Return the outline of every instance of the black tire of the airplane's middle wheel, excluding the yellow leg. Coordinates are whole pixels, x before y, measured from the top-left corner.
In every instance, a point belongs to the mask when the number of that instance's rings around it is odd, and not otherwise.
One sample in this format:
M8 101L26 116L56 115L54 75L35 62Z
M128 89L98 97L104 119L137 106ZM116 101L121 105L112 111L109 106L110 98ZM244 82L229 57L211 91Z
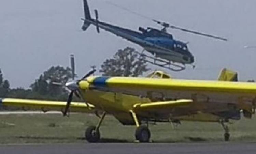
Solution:
M150 141L150 130L147 126L140 126L135 131L135 138L140 142L149 142Z

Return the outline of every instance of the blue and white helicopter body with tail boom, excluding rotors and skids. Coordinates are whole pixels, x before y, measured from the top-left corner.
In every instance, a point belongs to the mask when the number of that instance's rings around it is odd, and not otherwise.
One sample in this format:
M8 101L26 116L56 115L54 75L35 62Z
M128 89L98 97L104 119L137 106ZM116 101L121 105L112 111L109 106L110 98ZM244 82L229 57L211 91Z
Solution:
M153 28L148 28L147 30L140 28L143 29L141 33L96 21L95 19L86 19L86 21L142 46L156 57L182 64L194 63L194 57L189 52L187 45L181 41L174 40L171 34Z

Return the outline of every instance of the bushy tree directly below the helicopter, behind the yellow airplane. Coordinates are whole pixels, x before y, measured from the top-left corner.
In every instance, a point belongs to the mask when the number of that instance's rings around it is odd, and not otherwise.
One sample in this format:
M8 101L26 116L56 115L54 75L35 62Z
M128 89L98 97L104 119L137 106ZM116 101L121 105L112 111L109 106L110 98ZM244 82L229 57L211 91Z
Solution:
M113 58L107 59L101 65L103 76L132 76L137 77L148 71L145 61L138 59L134 48L118 50Z

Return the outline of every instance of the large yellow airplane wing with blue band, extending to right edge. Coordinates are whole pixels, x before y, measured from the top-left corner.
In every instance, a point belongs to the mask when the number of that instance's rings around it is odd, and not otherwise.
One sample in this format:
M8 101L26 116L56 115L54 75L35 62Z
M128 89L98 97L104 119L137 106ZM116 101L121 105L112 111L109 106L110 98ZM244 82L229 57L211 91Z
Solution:
M88 84L102 91L146 98L193 99L195 103L211 105L210 102L215 102L224 104L227 108L230 108L230 104L235 104L238 110L248 112L253 111L256 103L256 84L248 82L91 76L87 81L80 82L80 88L86 89Z

